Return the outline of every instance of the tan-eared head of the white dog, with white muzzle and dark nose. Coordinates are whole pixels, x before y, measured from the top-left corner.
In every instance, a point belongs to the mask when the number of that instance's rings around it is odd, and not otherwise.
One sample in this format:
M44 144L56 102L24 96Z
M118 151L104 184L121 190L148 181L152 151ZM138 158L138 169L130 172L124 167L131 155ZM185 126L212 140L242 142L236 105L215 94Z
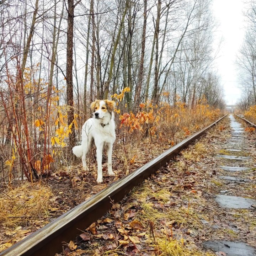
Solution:
M96 100L91 103L91 111L96 119L111 118L116 102L111 100Z

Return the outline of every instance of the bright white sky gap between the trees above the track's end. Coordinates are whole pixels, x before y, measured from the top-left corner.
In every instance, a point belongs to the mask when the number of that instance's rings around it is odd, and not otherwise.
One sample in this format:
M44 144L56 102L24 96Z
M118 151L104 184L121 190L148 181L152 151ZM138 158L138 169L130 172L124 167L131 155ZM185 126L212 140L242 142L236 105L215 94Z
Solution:
M244 39L245 17L242 14L244 7L243 0L213 0L213 14L219 23L215 34L216 45L223 37L215 65L221 76L226 104L236 103L241 95L234 62Z

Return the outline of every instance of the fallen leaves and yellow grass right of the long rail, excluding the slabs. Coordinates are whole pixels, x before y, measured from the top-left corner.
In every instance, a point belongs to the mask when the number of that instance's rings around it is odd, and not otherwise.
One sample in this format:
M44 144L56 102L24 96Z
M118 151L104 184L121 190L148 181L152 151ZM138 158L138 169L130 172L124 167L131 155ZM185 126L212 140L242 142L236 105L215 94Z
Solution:
M227 120L219 125L223 124L228 128ZM212 256L216 254L202 246L210 239L235 239L255 246L254 212L220 209L214 202L219 190L236 193L235 187L218 177L222 174L218 173L219 159L214 156L228 134L228 129L218 128L183 150L121 203L114 203L107 214L74 240L76 250L67 245L61 255ZM254 172L244 175L255 178ZM241 186L241 196L251 197L249 184Z

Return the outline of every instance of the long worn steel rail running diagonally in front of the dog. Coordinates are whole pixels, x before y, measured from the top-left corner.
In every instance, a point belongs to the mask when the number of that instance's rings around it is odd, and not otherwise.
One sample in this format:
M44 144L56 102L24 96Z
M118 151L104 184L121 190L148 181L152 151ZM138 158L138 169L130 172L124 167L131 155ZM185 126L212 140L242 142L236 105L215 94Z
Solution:
M62 250L63 242L68 243L70 240L73 240L76 235L82 233L81 230L87 228L106 213L112 206L111 200L114 202L120 201L133 187L165 165L166 162L171 160L187 145L201 137L225 116L166 150L161 155L156 156L126 177L112 183L101 192L35 231L25 239L17 242L17 244L3 251L0 256L53 256L56 252Z

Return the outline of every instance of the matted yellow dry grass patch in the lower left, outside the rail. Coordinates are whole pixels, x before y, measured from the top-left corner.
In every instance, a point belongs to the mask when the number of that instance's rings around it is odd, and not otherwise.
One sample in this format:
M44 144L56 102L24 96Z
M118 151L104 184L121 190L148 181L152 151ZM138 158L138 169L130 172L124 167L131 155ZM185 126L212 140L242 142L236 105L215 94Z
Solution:
M22 186L0 194L0 223L14 228L30 221L40 221L49 214L52 191L39 183Z

